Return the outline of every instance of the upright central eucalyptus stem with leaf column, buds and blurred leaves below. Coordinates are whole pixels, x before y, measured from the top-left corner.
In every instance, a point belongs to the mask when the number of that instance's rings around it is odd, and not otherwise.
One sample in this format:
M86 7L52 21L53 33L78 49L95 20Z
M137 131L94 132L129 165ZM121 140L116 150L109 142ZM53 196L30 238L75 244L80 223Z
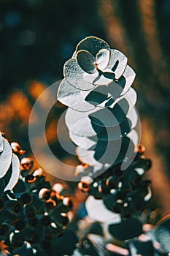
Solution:
M131 87L135 72L127 62L103 39L86 37L63 67L58 100L69 107L66 126L82 162L75 170L77 187L89 194L77 256L170 251L169 217L155 230L147 230L148 219L141 218L152 196L151 182L143 179L151 161L139 143L137 97Z

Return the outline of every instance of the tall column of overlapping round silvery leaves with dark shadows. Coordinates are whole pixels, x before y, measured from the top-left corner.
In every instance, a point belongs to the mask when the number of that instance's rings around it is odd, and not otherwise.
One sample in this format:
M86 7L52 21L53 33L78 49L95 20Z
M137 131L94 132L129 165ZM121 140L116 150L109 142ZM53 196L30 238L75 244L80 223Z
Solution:
M113 163L128 165L139 143L139 117L131 88L135 73L119 50L97 37L87 37L64 65L58 100L69 109L66 126L81 162L92 173Z

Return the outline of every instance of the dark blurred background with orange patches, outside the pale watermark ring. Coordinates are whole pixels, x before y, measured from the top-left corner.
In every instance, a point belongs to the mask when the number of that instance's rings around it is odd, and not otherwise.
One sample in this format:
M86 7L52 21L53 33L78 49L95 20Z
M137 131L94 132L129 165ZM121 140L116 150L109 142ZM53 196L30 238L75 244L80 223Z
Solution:
M63 64L89 35L123 51L136 71L142 143L153 162L152 206L168 213L169 186L169 0L0 0L0 129L28 154L28 119L41 92L63 78ZM47 140L69 159L57 140L64 107L56 103ZM54 178L52 178L54 179Z

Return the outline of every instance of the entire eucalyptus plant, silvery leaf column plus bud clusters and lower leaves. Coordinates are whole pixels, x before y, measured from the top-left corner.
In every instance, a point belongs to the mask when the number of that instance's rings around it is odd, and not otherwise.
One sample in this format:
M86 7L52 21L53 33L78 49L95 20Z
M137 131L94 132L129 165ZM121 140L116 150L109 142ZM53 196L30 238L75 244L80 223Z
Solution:
M77 146L72 214L66 185L52 186L16 142L0 134L0 241L8 255L158 256L170 253L170 218L150 217L152 162L140 143L135 72L98 37L86 37L63 67L58 100ZM71 223L70 223L71 222ZM69 227L69 228L68 228ZM0 252L1 253L1 252Z

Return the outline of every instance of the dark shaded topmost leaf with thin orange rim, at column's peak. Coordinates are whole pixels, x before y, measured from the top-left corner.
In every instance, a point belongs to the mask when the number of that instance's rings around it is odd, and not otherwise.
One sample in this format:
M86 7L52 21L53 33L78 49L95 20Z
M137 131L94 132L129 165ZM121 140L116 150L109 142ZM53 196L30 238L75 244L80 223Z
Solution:
M76 51L88 50L96 58L96 54L101 49L110 50L107 42L98 37L86 37L77 45Z

